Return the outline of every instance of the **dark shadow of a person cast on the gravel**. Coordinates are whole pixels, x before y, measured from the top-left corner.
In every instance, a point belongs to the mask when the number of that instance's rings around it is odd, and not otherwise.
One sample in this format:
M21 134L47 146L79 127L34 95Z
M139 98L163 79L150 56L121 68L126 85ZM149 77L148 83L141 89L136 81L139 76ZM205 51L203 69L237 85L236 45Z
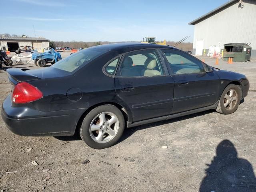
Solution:
M256 192L256 178L250 162L238 158L234 144L223 140L216 148L211 164L206 164L206 176L200 192Z

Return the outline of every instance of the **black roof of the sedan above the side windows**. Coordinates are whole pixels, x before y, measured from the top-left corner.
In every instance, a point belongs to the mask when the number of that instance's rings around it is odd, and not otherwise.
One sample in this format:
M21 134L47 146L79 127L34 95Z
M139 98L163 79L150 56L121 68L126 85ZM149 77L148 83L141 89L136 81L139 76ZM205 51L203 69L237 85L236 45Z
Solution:
M112 43L90 47L92 49L100 49L105 51L118 51L118 52L129 52L133 50L146 49L146 48L171 48L171 46L150 44L150 43Z

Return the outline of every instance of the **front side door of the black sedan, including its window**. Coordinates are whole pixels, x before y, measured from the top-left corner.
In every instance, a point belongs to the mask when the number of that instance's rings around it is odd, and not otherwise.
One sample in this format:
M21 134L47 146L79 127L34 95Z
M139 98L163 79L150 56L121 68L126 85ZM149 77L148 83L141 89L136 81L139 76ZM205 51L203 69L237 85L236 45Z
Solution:
M214 72L205 72L205 64L186 52L162 49L175 81L172 113L213 105L217 101L220 80Z

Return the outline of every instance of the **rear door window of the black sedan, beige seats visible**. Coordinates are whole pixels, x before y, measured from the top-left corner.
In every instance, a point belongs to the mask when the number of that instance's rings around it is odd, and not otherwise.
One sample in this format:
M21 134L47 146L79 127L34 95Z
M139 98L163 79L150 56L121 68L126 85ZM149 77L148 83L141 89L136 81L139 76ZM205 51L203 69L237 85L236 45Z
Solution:
M120 66L122 77L164 75L156 50L136 51L124 56Z

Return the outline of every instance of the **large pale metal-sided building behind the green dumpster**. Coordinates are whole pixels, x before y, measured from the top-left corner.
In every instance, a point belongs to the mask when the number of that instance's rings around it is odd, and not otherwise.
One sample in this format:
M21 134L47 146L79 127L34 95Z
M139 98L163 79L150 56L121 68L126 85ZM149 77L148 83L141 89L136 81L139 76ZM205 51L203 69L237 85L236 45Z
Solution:
M256 0L231 0L189 24L194 25L193 54L207 53L212 45L251 43L256 57Z

